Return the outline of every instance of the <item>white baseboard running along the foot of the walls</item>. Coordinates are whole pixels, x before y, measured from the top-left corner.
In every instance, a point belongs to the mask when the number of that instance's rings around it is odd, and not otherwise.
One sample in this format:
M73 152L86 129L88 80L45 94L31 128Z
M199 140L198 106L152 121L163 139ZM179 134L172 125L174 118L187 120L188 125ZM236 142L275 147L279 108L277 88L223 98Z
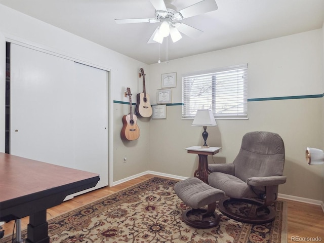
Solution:
M145 172L139 173L137 175L130 176L130 177L127 177L127 178L119 180L119 181L115 181L115 182L113 182L113 185L115 186L120 183L127 182L129 180L132 180L132 179L135 179L137 177L144 176L147 174L170 177L170 178L177 179L177 180L185 180L188 178L188 177L176 176L176 175L172 175L172 174L160 173L160 172L155 172L155 171L145 171ZM281 194L281 193L278 193L278 198L292 200L292 201L300 201L301 203L306 203L306 204L317 205L317 206L320 206L324 212L324 202L320 201L320 200L314 200L314 199L309 199L309 198L299 197L299 196L286 195L286 194Z

